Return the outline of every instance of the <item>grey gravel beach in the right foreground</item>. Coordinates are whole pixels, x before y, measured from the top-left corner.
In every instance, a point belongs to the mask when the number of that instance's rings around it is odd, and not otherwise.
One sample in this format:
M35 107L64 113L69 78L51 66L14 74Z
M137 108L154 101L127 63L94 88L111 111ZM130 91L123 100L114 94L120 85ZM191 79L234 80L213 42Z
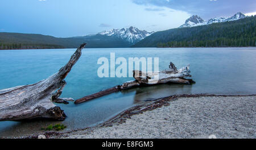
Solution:
M256 96L181 97L123 123L51 138L256 138Z

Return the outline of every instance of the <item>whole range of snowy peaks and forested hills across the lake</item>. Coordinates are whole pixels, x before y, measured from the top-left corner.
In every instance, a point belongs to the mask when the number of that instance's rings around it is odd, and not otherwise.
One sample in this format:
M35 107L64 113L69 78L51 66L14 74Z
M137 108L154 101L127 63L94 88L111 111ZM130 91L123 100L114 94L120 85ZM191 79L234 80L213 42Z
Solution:
M199 41L199 46L213 47L225 45L225 38L230 40L230 46L255 46L255 30L255 16L246 17L241 12L229 18L216 17L207 21L193 15L179 28L158 32L129 27L72 38L0 32L0 49L76 48L84 42L87 48L197 47Z

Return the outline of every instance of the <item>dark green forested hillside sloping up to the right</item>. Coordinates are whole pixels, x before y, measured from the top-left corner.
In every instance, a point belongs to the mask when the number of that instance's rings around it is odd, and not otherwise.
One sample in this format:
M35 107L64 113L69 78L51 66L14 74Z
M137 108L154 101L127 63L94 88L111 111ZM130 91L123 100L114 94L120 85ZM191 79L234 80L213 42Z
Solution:
M133 47L256 46L256 15L232 22L155 32Z

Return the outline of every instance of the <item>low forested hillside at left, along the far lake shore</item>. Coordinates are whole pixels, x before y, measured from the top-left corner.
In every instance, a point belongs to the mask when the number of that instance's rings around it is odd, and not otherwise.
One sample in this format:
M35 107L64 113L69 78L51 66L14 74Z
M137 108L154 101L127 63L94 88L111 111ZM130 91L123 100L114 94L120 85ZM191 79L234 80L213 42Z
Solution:
M87 43L86 48L130 47L121 38L93 35L73 38L55 38L39 34L18 34L0 32L0 49L47 49L47 48L77 48Z

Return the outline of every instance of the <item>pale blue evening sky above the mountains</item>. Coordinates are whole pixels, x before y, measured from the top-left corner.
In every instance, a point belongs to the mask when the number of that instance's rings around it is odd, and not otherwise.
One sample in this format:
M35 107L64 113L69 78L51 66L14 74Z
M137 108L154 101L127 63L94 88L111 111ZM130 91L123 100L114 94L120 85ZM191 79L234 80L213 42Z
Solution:
M255 0L1 0L0 6L0 32L56 37L129 26L162 31L179 27L193 14L207 20L256 11Z

